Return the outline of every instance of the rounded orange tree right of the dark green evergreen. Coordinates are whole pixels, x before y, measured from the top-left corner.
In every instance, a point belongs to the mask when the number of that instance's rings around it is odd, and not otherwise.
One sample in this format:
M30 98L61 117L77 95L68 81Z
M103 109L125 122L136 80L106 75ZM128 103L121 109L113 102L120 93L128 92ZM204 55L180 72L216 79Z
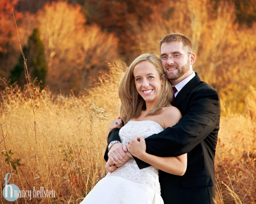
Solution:
M86 25L79 5L46 3L38 11L38 22L51 90L78 92L89 85L90 74L99 68L107 70L107 62L117 57L116 38L97 25Z

